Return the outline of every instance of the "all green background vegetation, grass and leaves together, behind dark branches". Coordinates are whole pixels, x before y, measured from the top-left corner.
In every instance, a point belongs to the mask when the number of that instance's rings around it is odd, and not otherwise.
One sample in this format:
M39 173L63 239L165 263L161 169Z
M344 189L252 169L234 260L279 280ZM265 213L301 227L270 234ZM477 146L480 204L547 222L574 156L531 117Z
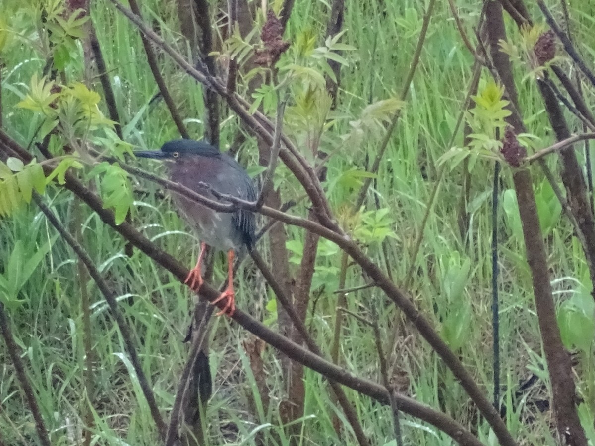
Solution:
M58 8L60 2L48 1ZM468 30L475 26L480 9L475 2L458 2L459 14ZM273 8L280 5L275 2ZM556 5L552 5L554 10ZM83 52L80 40L84 21L64 21L56 9L48 14L48 26L40 27L40 8L35 1L0 0L0 8L10 11L0 17L0 62L2 63L2 103L4 129L24 146L40 140L58 128L60 136L52 138L50 150L59 153L65 143L85 140L123 159L131 146L152 148L179 137L162 102L151 102L157 92L146 62L137 30L126 18L117 14L109 2L93 2L92 20L109 67L115 100L123 123L126 143L115 136L112 123L105 118L101 86L92 79L87 90L83 80ZM158 28L165 40L186 53L186 44L178 32L174 2L143 2L143 14ZM574 2L571 16L577 41L585 54L593 54L593 5ZM491 389L491 222L490 194L492 159L497 157L494 139L484 127L474 139L479 147L471 166L471 199L467 209L471 216L468 238L459 235L457 215L461 197L462 165L453 162L455 152L448 143L466 89L471 80L472 56L464 49L446 4L439 4L430 25L422 52L421 65L415 74L405 103L396 99L408 71L411 55L421 28L424 2L346 0L346 30L340 39L325 42L324 33L328 6L324 2L296 2L286 39L292 42L280 70L282 85L289 95L286 114L288 133L308 155L309 145L320 140L321 150L333 153L328 162L325 187L331 205L342 224L367 244L368 252L383 263L380 244L387 243L388 258L397 283L406 279L412 262L414 277L409 279L409 294L420 309L432 315L441 334L457 350L478 382ZM533 11L534 17L540 17ZM10 17L10 21L7 20ZM52 31L48 36L47 31ZM519 39L515 26L509 26L511 41ZM255 36L252 36L255 38ZM42 78L49 42L54 45L57 68L64 70L68 88L52 92ZM250 50L249 39L232 38L227 48L240 59ZM342 50L341 56L331 49ZM330 55L330 56L329 56ZM342 83L336 111L328 113L330 102L320 89L329 58L340 58ZM179 103L190 133L197 139L203 135L203 96L192 78L182 73L164 55L159 55L162 74ZM526 68L516 65L518 78ZM480 91L493 92L484 75ZM283 84L285 82L285 84ZM308 89L308 87L313 89ZM538 99L531 77L518 84L524 120L533 145L545 147L552 142L543 104ZM240 83L240 88L246 88ZM491 93L490 93L491 94ZM496 95L497 96L497 95ZM493 96L492 96L493 97ZM481 98L480 98L481 99ZM485 99L485 98L484 98ZM253 95L256 108L274 115L275 92L264 86ZM500 98L495 98L499 102ZM57 102L56 102L57 101ZM480 104L481 100L476 101ZM501 102L501 101L500 101ZM56 108L52 104L57 103ZM503 116L490 114L492 127ZM356 199L359 186L367 174L366 159L373 159L384 125L397 109L401 118L389 142L389 149L374 181L374 193L380 210L351 215L348 209ZM489 111L489 104L486 106ZM476 109L478 111L478 109ZM481 127L486 117L475 113L471 123ZM494 116L496 115L496 116ZM239 127L234 115L221 123L221 141L228 147ZM572 121L572 119L571 119ZM576 123L575 123L576 125ZM492 129L493 130L493 129ZM475 128L474 128L475 131ZM460 132L459 132L460 133ZM480 133L477 133L478 135ZM486 137L487 135L487 137ZM486 138L488 143L486 143ZM455 139L461 146L461 135ZM118 164L98 164L85 146L72 147L79 158L65 156L55 160L54 171L60 175L68 168L77 168L89 184L104 197L123 221L130 206L134 223L152 240L187 264L193 262L196 249L193 235L173 211L170 199L153 184L129 178ZM487 156L488 149L492 154ZM484 152L481 152L484 150ZM486 152L487 151L487 152ZM482 156L483 155L483 156ZM240 152L240 161L256 174L259 169L255 142L248 140ZM449 159L450 158L450 159ZM584 160L583 160L584 161ZM152 423L139 385L129 378L131 366L123 343L114 327L107 306L92 282L87 284L92 299L92 327L95 338L95 385L93 394L84 391L84 347L80 284L76 259L65 243L57 238L51 225L35 206L29 206L32 190L45 193L45 199L64 224L73 227L73 215L80 205L71 194L40 177L40 158L30 165L0 164L0 301L7 304L17 341L29 363L29 377L35 386L43 416L55 444L73 444L80 435L80 417L89 403L95 419L96 444L154 445L157 443ZM411 258L412 247L427 208L428 196L437 181L440 162L452 165L443 179L434 211L425 227L421 252ZM14 163L14 162L12 162ZM555 160L549 161L555 168ZM157 168L159 169L159 168ZM540 174L534 175L534 189L552 271L558 321L563 339L578 357L578 389L583 398L580 411L585 428L595 441L592 428L595 413L593 372L593 301L580 245L567 222L560 219L560 208L552 189ZM61 183L63 181L59 181ZM275 184L287 199L299 194L297 184L281 167ZM524 255L522 231L515 195L509 189L509 174L503 175L504 190L500 195L500 323L502 332L502 380L506 385L503 402L508 407L506 422L522 444L555 445L550 434L549 414L538 412L534 401L547 398L545 389L516 398L515 391L531 373L541 378L546 387L547 373L541 353L537 319L534 313L530 272ZM186 359L186 346L181 343L189 321L192 300L179 282L157 268L139 252L124 255L124 241L112 233L96 215L83 209L82 237L96 264L119 295L121 306L133 326L143 368L151 377L156 397L162 407L171 407L177 378ZM304 203L296 208L307 212ZM292 267L297 269L302 253L303 233L288 228ZM322 242L318 250L314 277L315 310L308 325L321 346L330 344L332 315L338 287L339 251L331 243ZM224 273L217 263L216 277ZM245 264L237 288L239 306L261 317L276 328L274 296L266 292L264 281L255 268ZM349 270L347 287L364 283L359 271ZM129 284L129 286L126 286ZM474 423L481 441L496 444L493 434L477 414L453 376L431 353L408 324L400 321L392 304L378 292L367 289L349 294L349 309L365 312L374 306L384 328L386 347L396 352L394 379L399 391L432 407L439 407L455 419ZM397 336L394 346L392 329L399 326L410 336ZM224 318L215 321L212 332L214 397L207 418L211 444L287 444L287 432L278 417L278 404L283 395L280 364L274 351L264 354L271 404L263 407L255 392L255 378L242 347L246 333ZM0 348L0 429L8 444L33 444L35 430L26 409L4 346ZM371 330L353 318L347 318L341 346L347 368L358 375L380 381L377 353ZM327 386L314 372L307 372L306 416L301 444L343 444L333 429L332 418L343 414L331 401ZM399 381L400 380L400 381ZM361 417L366 434L373 444L392 444L392 415L353 392L349 393ZM513 403L514 401L514 403ZM256 408L253 410L253 408ZM530 422L528 421L530 419ZM476 423L476 424L475 424ZM256 433L258 432L258 435ZM406 444L450 445L452 440L431 426L403 417ZM350 432L347 444L355 444Z

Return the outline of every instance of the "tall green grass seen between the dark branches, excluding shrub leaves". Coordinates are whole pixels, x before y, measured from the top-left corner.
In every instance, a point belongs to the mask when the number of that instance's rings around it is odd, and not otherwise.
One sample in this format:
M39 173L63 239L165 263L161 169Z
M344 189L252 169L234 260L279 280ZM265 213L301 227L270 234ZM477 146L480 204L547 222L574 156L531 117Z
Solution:
M478 8L468 2L461 5L466 26L471 29L477 20ZM177 33L174 3L149 1L143 13L158 27L161 35L174 42L180 49L184 43ZM287 29L289 40L306 27L322 36L328 7L325 2L296 2ZM411 54L417 43L424 5L416 1L347 0L345 43L357 48L347 55L350 66L344 68L338 111L348 119L338 120L330 133L345 133L349 120L355 120L361 110L372 100L389 98L400 89L402 78L409 67ZM592 26L591 7L585 2L575 2L571 10L577 36L580 36L585 54L592 54L592 35L586 30ZM108 2L95 2L93 21L110 70L118 110L124 123L126 139L139 147L155 147L177 137L167 109L162 103L151 104L156 93L149 67L136 29L126 18L116 14ZM535 17L538 17L535 14ZM11 24L21 30L22 40L35 42L32 22L24 12L18 12ZM514 39L515 32L511 27ZM70 65L69 79L82 75L82 48L74 54L77 64ZM162 58L162 72L172 89L176 101L193 137L203 132L201 88L194 80ZM44 61L34 45L17 45L9 48L2 57L5 64L2 79L4 101L4 126L21 143L29 144L34 138L38 122L29 112L15 104L22 99L34 73L42 71ZM456 117L465 99L466 85L471 78L472 58L465 51L455 25L445 5L433 17L425 45L421 67L409 91L409 99L400 123L389 143L384 162L375 182L381 207L390 208L393 230L397 237L388 244L390 269L397 283L404 282L406 272L415 262L415 277L408 290L425 313L434 315L435 322L445 324L452 318L468 315L468 322L460 326L465 340L459 355L475 378L489 392L493 379L491 371L491 221L490 190L493 165L479 162L472 174L471 230L468 240L461 240L457 224L461 172L455 169L444 177L439 196L424 230L421 252L411 258L412 246L420 230L421 221L431 189L436 183L436 161L446 147L454 130ZM522 73L519 70L519 78ZM519 86L521 105L530 131L542 138L541 145L552 141L547 129L543 105L536 89L527 82ZM99 89L99 87L98 87ZM237 120L230 117L223 121L221 140L230 143ZM345 152L334 156L328 164L329 182L339 177L351 165L364 167L365 157L373 159L383 135L372 135L357 147L345 147ZM332 139L333 134L325 135ZM461 136L456 139L461 144ZM256 164L256 147L245 145L242 158ZM584 160L583 160L584 161ZM552 161L552 167L555 165ZM536 190L543 189L544 180L535 175ZM193 235L172 210L170 199L152 184L136 183L137 215L134 222L159 243L167 252L187 259L190 265L196 256ZM534 312L531 278L524 257L524 244L519 238L518 224L514 219L515 203L507 201L511 188L508 175L503 177L500 211L500 324L502 334L502 380L506 388L502 401L508 411L506 422L521 444L556 444L550 434L550 414L541 413L534 401L547 398L540 388L548 385L545 363L541 352L537 319ZM58 189L49 193L51 206L68 224L72 212L71 197ZM290 197L287 197L290 198ZM336 209L349 205L353 197L344 190L331 191L331 204ZM538 194L538 200L547 202L547 193ZM297 209L297 212L305 209ZM303 233L288 228L290 240L300 240ZM11 219L0 220L0 271L17 240L26 244L28 252L53 240L54 230L36 208L22 209ZM134 329L134 336L143 360L146 375L162 409L173 404L177 378L186 360L186 346L181 343L185 326L189 322L192 298L179 282L161 271L141 253L133 257L123 254L124 241L112 233L95 215L88 215L83 226L86 249L105 277L120 296L121 306ZM192 240L192 243L189 241ZM314 281L326 286L320 293L316 309L309 318L309 326L317 343L330 344L333 333L331 319L338 282L336 271L339 258L332 247L325 255L326 245L320 248L320 269ZM588 272L572 230L567 222L552 224L547 234L552 278L556 299L563 301L573 293L588 288ZM378 247L369 253L383 264ZM448 274L452 268L468 260L471 265L465 280L462 296L455 302L447 301ZM134 378L124 352L124 345L111 321L101 295L92 284L93 351L95 354L95 387L92 395L84 391L84 347L80 290L76 278L73 253L58 239L53 242L51 253L36 269L21 299L26 303L11 312L17 342L29 365L32 381L43 416L55 444L76 444L80 441L82 413L92 407L93 439L105 445L156 445L156 434L148 407ZM217 280L223 280L223 263L216 263ZM130 269L127 269L129 267ZM324 269L325 267L327 269ZM334 272L334 274L333 274ZM273 296L264 293L264 279L256 274L249 262L239 275L237 301L239 306L260 316L275 326L275 312L267 304ZM347 287L364 283L361 272L350 268ZM129 284L126 287L125 284ZM255 292L257 290L258 292ZM129 299L131 298L131 299ZM496 444L493 434L469 403L452 374L444 368L418 334L405 322L396 326L395 310L384 296L374 288L349 294L348 309L359 312L362 304L379 309L380 325L399 329L394 351L394 379L398 389L416 400L446 410L465 425L473 425L480 439L486 444ZM462 320L462 319L461 319ZM392 338L383 333L385 343ZM289 444L287 431L278 416L278 405L284 398L280 363L274 351L264 351L270 406L262 405L256 391L249 359L242 347L246 333L224 318L216 319L212 330L211 368L214 376L214 395L208 406L206 420L209 425L209 444ZM0 430L2 439L9 445L35 444L32 417L24 404L18 383L7 362L4 347L0 348ZM371 330L361 322L347 316L342 343L345 366L358 375L380 381L380 368ZM592 358L591 358L592 362ZM588 363L588 361L584 362ZM515 395L519 385L532 374L540 381L531 391ZM591 413L594 412L595 391L593 369L580 370L578 387ZM342 419L342 411L328 395L327 385L317 373L308 371L306 383L306 415L303 418L302 445L355 444L350 432L339 437L333 428L333 417ZM349 392L366 434L373 444L389 445L393 439L392 415L368 398ZM252 410L255 407L256 410ZM348 425L345 423L345 425ZM403 417L406 444L450 445L452 440L441 432L416 419Z

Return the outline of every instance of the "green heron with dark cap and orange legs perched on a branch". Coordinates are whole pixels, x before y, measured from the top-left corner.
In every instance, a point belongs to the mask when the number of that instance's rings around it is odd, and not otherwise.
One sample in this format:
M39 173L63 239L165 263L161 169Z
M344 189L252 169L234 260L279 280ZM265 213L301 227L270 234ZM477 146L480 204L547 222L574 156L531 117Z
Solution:
M256 189L245 169L226 153L208 143L190 139L180 139L165 143L160 150L139 150L134 152L141 158L167 161L170 179L182 184L205 197L215 199L201 183L208 184L220 194L255 201ZM254 241L254 213L244 210L235 212L217 212L199 203L173 193L173 199L189 224L196 230L201 240L201 251L196 266L190 271L185 284L198 293L203 284L201 263L208 244L217 250L227 251L227 288L213 304L226 300L226 304L217 315L233 315L236 305L233 290L234 252L244 247L252 249Z

